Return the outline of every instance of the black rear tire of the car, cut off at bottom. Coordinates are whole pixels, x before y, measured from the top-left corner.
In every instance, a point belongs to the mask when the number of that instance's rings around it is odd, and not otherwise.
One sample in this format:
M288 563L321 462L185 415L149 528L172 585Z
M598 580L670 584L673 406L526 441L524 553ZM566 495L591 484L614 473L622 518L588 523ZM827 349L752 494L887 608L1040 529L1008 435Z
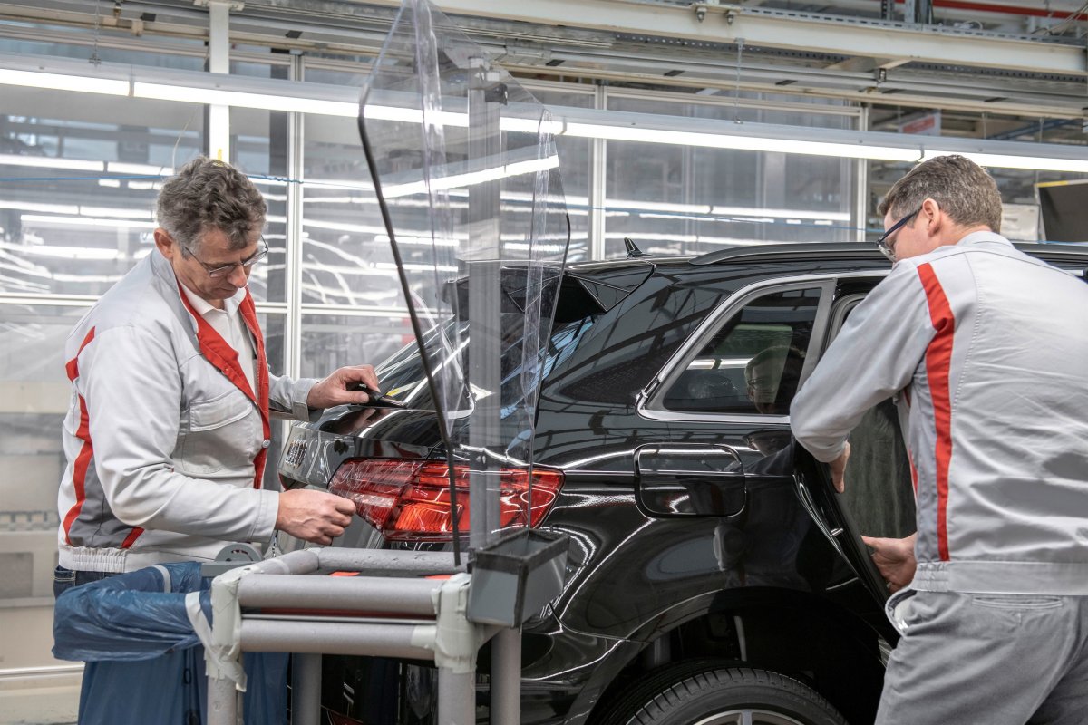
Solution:
M811 687L751 667L665 667L632 684L599 725L846 725Z

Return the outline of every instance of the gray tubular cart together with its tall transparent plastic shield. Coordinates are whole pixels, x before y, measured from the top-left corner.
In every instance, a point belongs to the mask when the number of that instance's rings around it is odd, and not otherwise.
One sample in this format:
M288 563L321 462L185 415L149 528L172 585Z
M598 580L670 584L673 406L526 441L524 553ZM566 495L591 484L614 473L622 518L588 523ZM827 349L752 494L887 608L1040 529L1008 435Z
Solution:
M211 725L235 723L243 651L299 655L296 725L318 722L322 653L433 661L438 722L471 725L477 651L492 638L491 720L517 725L520 627L562 588L566 538L532 528L531 485L518 527L504 529L498 487L499 466L532 471L570 240L556 124L428 0L405 0L371 68L363 150L447 460L469 468L471 565L460 566L450 466L453 555L308 549L220 575ZM520 282L504 283L510 271ZM452 285L462 276L466 300Z

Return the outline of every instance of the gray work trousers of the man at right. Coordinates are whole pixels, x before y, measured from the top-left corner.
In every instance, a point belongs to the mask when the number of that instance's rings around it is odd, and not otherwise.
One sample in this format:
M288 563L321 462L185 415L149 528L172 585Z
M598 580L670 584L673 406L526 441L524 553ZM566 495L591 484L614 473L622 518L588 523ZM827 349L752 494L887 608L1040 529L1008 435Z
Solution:
M876 725L1084 725L1088 597L918 591Z

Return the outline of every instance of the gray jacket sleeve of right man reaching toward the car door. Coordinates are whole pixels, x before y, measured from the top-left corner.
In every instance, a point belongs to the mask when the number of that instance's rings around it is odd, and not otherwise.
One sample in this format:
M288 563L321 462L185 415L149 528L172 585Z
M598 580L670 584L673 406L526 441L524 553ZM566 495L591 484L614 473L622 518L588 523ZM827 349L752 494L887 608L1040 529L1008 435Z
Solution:
M793 436L838 458L867 410L910 385L935 329L917 265L899 262L846 318L790 405Z

